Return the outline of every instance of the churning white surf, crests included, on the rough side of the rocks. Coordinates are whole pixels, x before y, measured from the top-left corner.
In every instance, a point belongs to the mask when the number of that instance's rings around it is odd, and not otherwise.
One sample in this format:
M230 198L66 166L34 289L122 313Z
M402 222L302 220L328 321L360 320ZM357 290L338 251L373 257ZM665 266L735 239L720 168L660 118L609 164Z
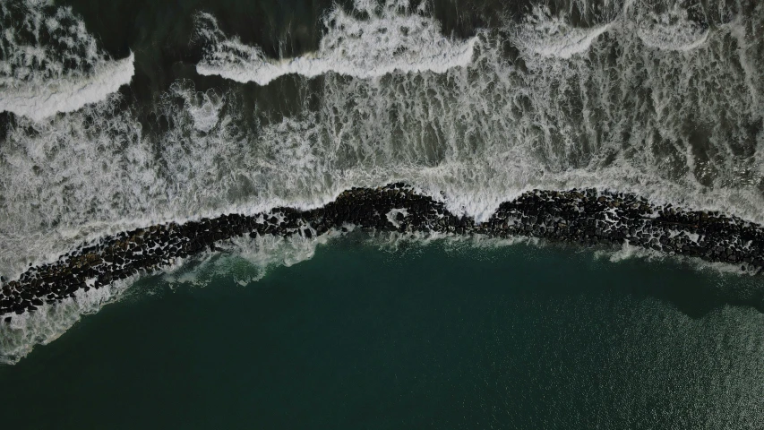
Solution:
M537 2L462 39L426 7L359 1L329 11L319 49L292 58L268 58L200 13L197 71L227 86L175 82L154 107L159 133L107 96L130 81L132 56L108 59L68 9L35 10L4 30L0 56L0 109L13 112L0 142L0 273L11 279L126 228L314 207L399 180L477 219L528 189L593 186L764 221L754 0ZM55 51L7 41L56 22L69 39ZM237 82L285 74L320 91L305 85L288 116L245 107ZM77 85L99 96L39 108L36 97Z

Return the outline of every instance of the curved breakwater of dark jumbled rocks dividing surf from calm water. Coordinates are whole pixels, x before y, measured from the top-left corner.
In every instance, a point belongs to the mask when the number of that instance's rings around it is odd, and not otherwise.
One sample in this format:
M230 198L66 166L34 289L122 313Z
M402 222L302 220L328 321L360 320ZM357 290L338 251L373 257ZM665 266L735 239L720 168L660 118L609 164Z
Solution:
M751 274L764 266L764 228L718 212L656 206L631 193L534 190L502 203L491 219L476 224L399 183L353 188L311 211L275 208L254 216L221 215L108 236L56 262L30 267L18 280L3 281L0 315L10 323L14 314L74 297L80 288L101 288L138 272L159 271L178 258L215 251L216 244L234 236L312 238L350 225L401 233L533 236L580 245L628 241L665 253L740 265Z

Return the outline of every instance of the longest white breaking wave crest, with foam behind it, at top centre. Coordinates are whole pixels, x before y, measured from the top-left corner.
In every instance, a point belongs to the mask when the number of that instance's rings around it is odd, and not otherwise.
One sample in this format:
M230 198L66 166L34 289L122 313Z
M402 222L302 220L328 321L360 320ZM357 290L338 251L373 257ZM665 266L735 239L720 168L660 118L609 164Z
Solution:
M442 36L440 24L424 14L409 11L408 3L387 0L377 12L370 1L356 0L356 13L339 6L324 18L324 32L317 51L294 58L271 59L260 47L227 39L215 18L200 13L199 35L208 50L197 64L200 74L219 74L236 82L266 85L279 76L296 73L313 78L339 73L373 78L388 73L444 73L469 64L476 39L456 41ZM364 12L368 19L357 13Z

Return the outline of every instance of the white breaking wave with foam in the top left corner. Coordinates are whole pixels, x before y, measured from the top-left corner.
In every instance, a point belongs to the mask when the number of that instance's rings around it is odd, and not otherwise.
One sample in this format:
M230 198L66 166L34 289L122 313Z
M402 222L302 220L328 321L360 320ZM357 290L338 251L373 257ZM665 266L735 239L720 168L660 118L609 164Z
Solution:
M133 54L109 59L71 8L0 2L0 15L12 24L0 31L0 112L40 121L105 99L133 78Z

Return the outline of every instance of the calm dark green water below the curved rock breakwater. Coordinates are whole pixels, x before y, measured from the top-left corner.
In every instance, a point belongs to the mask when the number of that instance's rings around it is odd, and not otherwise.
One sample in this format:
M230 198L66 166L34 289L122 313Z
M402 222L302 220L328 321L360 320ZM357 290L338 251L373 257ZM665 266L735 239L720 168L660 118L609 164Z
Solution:
M0 415L4 428L761 428L764 315L730 304L755 289L677 262L346 238L247 287L142 280L0 367Z

